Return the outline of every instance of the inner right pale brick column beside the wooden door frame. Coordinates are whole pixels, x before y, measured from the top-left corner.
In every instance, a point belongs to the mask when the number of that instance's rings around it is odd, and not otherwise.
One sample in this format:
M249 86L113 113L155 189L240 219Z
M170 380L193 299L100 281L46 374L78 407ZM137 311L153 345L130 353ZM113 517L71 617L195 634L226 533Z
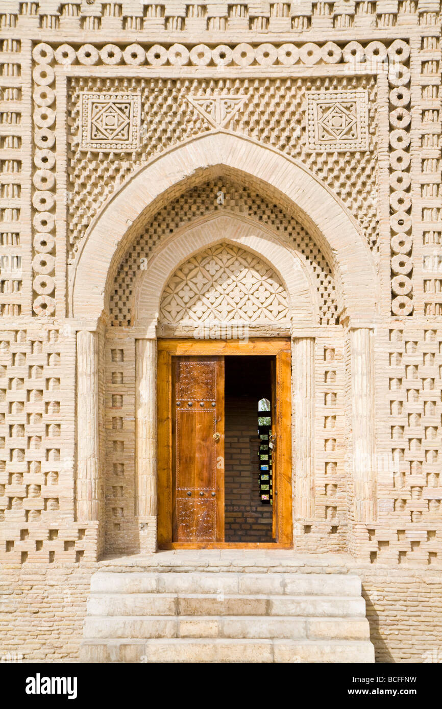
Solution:
M314 518L314 337L292 338L294 520Z

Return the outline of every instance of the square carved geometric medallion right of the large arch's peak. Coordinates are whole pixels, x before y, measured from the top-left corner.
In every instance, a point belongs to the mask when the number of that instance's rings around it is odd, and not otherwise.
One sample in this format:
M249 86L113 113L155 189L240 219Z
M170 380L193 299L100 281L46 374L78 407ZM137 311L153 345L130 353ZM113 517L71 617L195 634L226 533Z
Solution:
M368 150L368 92L308 91L309 150Z

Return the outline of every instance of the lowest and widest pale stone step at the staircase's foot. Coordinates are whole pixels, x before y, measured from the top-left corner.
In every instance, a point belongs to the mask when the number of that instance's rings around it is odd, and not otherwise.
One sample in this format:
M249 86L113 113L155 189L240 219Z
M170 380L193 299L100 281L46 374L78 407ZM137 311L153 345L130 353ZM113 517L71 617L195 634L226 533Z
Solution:
M82 662L372 663L368 640L84 640Z

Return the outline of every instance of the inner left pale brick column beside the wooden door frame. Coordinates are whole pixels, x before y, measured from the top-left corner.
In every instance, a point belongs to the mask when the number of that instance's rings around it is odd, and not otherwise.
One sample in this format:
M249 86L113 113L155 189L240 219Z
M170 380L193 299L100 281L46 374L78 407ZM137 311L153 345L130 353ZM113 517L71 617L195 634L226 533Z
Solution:
M136 518L140 552L157 542L157 340L135 344Z

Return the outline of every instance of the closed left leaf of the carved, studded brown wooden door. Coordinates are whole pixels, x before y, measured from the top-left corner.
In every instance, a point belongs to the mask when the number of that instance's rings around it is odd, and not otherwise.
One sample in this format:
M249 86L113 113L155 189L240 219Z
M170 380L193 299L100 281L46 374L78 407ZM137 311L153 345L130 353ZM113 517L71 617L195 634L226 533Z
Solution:
M224 358L172 357L172 541L224 538Z

